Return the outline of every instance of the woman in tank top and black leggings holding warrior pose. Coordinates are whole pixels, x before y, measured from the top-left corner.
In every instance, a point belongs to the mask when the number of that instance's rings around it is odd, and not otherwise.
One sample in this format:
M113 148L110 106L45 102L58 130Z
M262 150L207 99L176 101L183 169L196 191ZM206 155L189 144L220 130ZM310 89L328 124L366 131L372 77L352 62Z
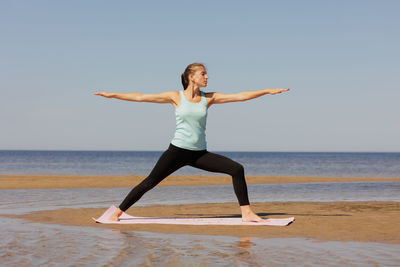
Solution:
M204 93L207 71L203 64L193 63L181 75L182 91L161 94L96 92L108 98L135 102L170 103L175 108L176 130L169 148L161 155L150 175L126 196L110 220L118 221L122 212L138 201L147 191L179 168L189 165L195 168L226 173L232 176L233 188L238 199L243 222L264 221L256 215L249 203L243 166L227 157L208 152L206 149L207 109L213 104L246 101L265 94L278 94L289 89L264 89L238 94Z

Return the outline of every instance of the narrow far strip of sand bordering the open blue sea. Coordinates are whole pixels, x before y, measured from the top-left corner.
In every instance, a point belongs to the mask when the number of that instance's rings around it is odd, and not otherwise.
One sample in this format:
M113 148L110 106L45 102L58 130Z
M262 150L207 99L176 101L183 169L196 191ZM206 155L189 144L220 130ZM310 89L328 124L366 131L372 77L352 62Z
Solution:
M110 188L134 187L146 176L99 175L16 175L0 174L0 189L50 189L50 188ZM247 184L334 183L334 182L400 182L398 178L377 177L307 177L307 176L246 176ZM169 176L157 186L207 186L231 185L227 175Z

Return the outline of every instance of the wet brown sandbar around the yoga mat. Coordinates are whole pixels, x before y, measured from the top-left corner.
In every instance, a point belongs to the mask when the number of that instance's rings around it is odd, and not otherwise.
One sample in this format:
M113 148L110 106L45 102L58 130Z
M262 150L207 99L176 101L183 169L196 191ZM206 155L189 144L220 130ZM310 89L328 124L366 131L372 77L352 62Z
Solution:
M174 234L226 235L241 238L313 238L321 241L360 241L400 244L399 202L272 202L253 203L260 216L295 222L277 226L105 225L91 218L105 209L59 209L23 215L2 215L33 222L91 226ZM148 217L240 216L237 203L131 207L128 214Z

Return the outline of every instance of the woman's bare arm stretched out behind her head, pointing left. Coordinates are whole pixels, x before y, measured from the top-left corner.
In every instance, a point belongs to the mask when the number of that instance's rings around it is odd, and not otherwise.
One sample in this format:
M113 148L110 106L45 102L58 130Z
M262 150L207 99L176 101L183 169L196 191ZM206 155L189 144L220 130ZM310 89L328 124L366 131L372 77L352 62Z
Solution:
M161 94L96 92L94 94L127 101L173 104L176 103L177 92L170 91Z

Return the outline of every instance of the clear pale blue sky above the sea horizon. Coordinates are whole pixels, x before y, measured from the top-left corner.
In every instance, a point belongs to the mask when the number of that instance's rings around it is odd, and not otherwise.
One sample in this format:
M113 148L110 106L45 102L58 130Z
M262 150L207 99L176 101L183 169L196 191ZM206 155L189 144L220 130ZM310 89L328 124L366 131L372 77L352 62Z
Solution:
M164 150L170 104L95 91L291 88L209 109L210 151L400 151L400 1L0 1L0 149Z

